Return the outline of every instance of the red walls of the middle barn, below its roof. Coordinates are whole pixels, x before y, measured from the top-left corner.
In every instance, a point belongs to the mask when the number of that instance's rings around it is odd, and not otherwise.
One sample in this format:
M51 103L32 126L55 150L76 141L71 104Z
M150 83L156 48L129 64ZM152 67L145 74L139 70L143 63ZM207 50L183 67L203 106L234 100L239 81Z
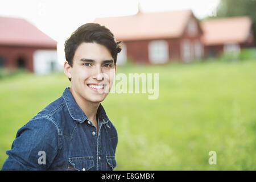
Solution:
M194 30L194 31L193 31ZM204 46L200 38L203 32L200 25L191 15L187 25L184 27L183 34L180 38L165 38L165 39L148 39L148 40L126 40L123 41L126 47L127 58L134 60L136 63L148 64L150 58L148 56L148 45L153 40L165 40L168 43L169 60L168 61L191 61L195 59L195 42L201 45L201 57L204 56ZM184 60L183 43L189 44L189 58ZM198 49L197 49L198 50ZM197 54L198 55L198 54ZM198 58L198 57L197 57Z

